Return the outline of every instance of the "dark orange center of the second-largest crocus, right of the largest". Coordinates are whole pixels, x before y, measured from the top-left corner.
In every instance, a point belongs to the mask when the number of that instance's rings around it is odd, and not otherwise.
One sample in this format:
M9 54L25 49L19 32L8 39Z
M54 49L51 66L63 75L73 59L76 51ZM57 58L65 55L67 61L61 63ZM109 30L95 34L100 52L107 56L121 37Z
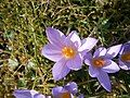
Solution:
M102 68L105 64L105 61L102 58L96 58L92 60L92 64L95 68Z

